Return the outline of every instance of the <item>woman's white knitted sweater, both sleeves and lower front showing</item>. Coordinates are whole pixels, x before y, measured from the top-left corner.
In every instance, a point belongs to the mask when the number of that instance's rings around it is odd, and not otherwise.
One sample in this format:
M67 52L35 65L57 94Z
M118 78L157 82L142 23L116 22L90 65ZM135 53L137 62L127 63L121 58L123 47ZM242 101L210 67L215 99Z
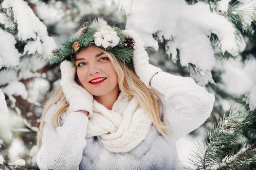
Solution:
M214 95L197 85L190 77L159 72L153 76L151 88L159 92L164 103L164 123L168 126L173 141L198 128L210 116L213 109ZM40 170L78 170L83 149L87 145L85 136L88 117L79 112L69 113L63 125L55 131L51 125L51 116L55 107L56 105L52 106L46 115L37 165ZM105 153L97 155L93 160L93 169L107 166L111 169L123 170L117 165L120 162L118 160L123 156L127 157L126 160L130 160L130 163L132 162L129 169L141 169L138 158L129 153L114 154L104 151ZM102 158L107 160L111 158L112 161L108 162L109 165L100 165L97 160Z

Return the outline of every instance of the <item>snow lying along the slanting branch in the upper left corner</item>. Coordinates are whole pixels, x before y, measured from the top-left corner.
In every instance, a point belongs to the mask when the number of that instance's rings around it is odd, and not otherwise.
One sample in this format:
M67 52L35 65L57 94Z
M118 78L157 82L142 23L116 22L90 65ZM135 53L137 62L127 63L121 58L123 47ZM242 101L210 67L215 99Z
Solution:
M2 7L12 7L14 18L18 24L18 39L21 41L26 41L30 38L35 40L34 42L28 42L24 53L28 52L32 54L37 51L39 54L45 54L43 55L44 58L48 58L49 51L55 49L56 44L53 38L49 39L46 26L34 14L27 2L23 0L4 0ZM46 44L42 45L42 43Z

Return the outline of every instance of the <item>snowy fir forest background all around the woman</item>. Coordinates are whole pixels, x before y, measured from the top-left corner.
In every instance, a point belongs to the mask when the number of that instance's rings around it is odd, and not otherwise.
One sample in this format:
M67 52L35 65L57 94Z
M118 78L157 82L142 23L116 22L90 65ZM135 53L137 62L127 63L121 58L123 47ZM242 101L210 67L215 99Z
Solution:
M38 169L40 116L60 78L49 55L95 17L135 30L152 64L215 95L209 119L177 141L184 167L256 170L256 0L0 0L0 170Z

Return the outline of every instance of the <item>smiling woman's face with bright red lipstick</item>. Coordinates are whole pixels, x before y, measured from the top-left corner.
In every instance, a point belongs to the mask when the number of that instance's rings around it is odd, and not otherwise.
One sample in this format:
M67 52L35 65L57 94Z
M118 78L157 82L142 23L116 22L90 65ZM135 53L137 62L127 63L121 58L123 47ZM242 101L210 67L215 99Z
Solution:
M77 53L75 65L78 80L91 95L103 96L112 90L119 90L118 77L109 57L96 47Z

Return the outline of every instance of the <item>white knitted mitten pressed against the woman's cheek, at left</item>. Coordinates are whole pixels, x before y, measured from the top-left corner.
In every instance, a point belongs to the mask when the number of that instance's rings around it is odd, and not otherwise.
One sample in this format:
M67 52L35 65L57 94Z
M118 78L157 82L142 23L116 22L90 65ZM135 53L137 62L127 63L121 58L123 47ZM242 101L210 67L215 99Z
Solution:
M70 61L63 61L60 64L61 80L63 93L70 105L70 111L85 110L92 115L93 96L82 86L75 82L75 68L72 68Z

